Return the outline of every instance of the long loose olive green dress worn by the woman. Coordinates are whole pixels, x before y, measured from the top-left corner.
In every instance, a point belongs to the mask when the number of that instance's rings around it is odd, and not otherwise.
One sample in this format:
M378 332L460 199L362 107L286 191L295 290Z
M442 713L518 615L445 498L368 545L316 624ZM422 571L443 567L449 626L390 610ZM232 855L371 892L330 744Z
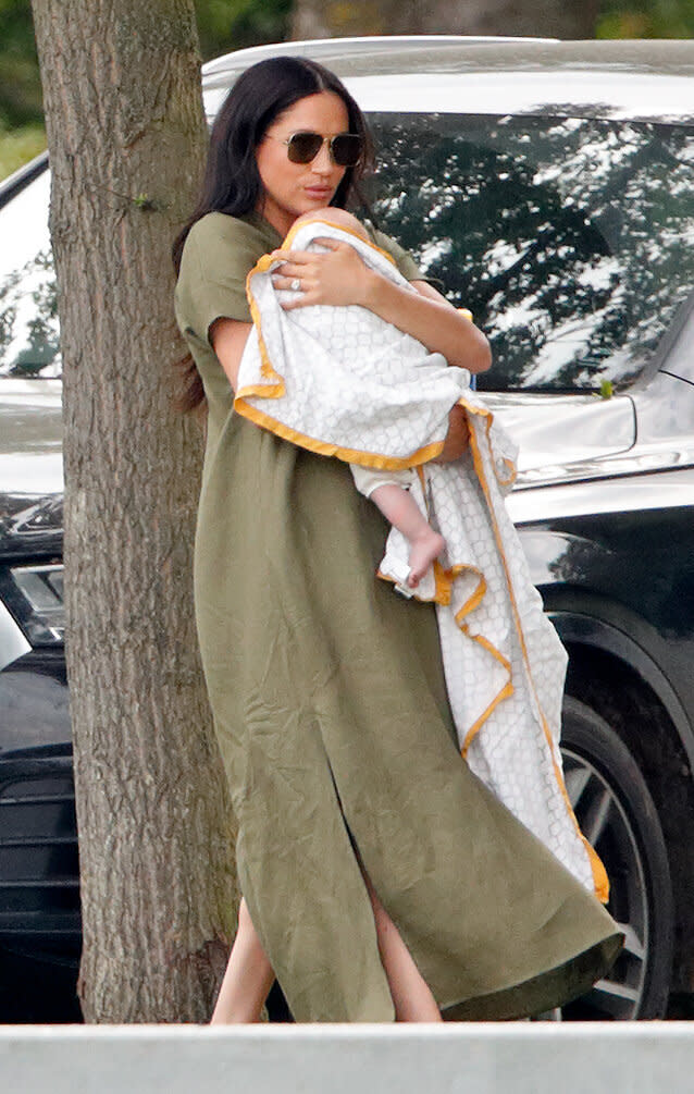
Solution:
M209 213L176 289L209 404L195 598L242 891L299 1022L393 1020L357 852L445 1016L544 1011L622 935L461 759L434 607L375 577L376 507L345 464L235 415L208 340L250 321L246 275L280 243L257 214Z

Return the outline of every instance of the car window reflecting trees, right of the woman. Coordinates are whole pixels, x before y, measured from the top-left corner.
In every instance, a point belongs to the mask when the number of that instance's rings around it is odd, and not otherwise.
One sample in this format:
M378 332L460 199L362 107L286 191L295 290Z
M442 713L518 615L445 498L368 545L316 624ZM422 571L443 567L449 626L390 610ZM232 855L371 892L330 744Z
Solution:
M492 342L492 389L633 381L694 286L694 130L576 117L369 117L379 226Z

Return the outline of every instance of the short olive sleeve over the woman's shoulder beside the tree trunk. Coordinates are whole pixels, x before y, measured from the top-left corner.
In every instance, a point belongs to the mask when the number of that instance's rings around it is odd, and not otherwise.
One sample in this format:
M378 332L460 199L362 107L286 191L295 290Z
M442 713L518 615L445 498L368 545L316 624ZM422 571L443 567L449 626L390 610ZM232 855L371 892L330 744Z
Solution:
M221 317L250 323L246 276L268 249L258 229L224 213L208 213L190 229L176 283L176 318L184 336L210 345Z

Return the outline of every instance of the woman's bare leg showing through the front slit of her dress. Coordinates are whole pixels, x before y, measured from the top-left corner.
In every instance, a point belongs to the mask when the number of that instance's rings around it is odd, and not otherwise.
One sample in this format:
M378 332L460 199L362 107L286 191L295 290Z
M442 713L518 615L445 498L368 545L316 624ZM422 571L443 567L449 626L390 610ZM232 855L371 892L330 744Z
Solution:
M363 869L363 868L362 868ZM443 1022L424 977L412 959L400 932L364 874L376 921L378 952L388 978L397 1022Z

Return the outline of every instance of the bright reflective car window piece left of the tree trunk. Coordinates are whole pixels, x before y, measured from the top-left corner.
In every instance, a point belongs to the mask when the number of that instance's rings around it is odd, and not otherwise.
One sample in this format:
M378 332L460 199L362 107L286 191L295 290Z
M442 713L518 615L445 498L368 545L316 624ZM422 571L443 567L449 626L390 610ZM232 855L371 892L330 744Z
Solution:
M60 375L48 171L0 209L0 379Z

